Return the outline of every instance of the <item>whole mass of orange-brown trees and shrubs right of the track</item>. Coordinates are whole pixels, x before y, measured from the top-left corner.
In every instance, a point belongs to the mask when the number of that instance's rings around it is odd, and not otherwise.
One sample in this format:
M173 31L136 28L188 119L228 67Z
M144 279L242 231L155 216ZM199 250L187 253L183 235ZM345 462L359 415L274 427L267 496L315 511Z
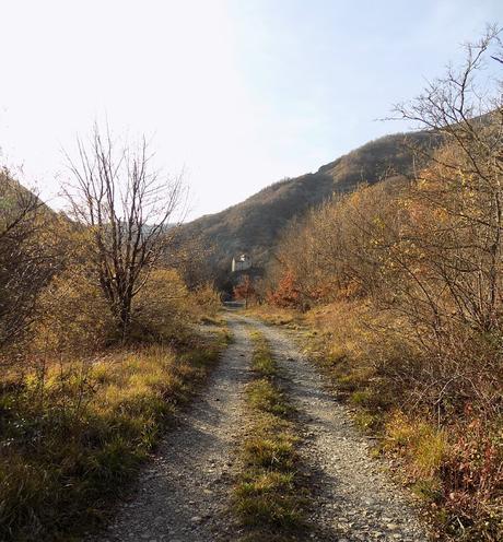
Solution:
M438 450L423 472L430 497L451 511L446 532L469 540L502 534L499 36L490 27L461 66L396 107L431 138L414 149L413 175L390 172L290 224L269 273L272 305L325 321L324 352L340 382L370 411L387 412L378 431L410 452L421 424L433 427L416 450L416 474L425 450ZM408 445L397 409L410 420Z

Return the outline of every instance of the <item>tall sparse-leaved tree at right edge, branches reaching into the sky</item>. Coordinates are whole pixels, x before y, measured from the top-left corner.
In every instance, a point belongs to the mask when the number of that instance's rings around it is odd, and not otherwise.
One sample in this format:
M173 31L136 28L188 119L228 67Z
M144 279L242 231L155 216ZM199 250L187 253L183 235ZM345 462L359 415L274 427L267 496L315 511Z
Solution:
M503 46L499 28L489 26L465 48L459 68L449 67L416 101L396 109L401 118L440 134L448 148L428 153L431 167L426 176L418 174L416 199L431 215L445 216L422 248L428 249L435 274L455 299L456 315L491 331L501 328L503 299L503 80L496 74L501 66L495 61ZM488 75L490 67L493 70Z

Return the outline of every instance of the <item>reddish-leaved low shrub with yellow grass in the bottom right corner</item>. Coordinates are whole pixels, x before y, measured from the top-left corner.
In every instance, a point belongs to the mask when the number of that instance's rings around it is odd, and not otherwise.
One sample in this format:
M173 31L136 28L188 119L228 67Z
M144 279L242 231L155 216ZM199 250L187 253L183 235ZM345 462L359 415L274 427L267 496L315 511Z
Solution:
M470 413L471 415L471 413ZM503 534L503 434L501 424L437 427L395 411L383 446L403 460L414 491L447 539L501 540Z

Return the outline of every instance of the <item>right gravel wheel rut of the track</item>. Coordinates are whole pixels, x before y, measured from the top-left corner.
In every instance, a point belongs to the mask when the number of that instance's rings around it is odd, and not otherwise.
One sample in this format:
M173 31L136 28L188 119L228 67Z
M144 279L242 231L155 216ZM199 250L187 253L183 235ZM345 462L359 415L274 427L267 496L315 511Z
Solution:
M429 540L410 495L395 485L348 409L324 387L321 376L284 331L245 319L268 339L299 410L301 455L313 485L312 540Z

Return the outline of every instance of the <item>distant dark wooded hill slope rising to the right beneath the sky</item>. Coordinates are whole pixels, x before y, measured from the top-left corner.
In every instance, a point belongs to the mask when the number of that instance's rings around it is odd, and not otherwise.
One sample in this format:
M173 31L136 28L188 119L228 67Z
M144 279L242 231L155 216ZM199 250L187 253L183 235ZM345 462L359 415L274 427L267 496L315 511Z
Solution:
M276 182L247 200L217 214L204 215L182 226L183 236L200 237L213 247L220 273L231 267L234 254L248 252L256 266L267 263L281 229L332 193L353 190L362 182L411 172L413 149L431 143L425 132L393 134L321 166L316 173Z

